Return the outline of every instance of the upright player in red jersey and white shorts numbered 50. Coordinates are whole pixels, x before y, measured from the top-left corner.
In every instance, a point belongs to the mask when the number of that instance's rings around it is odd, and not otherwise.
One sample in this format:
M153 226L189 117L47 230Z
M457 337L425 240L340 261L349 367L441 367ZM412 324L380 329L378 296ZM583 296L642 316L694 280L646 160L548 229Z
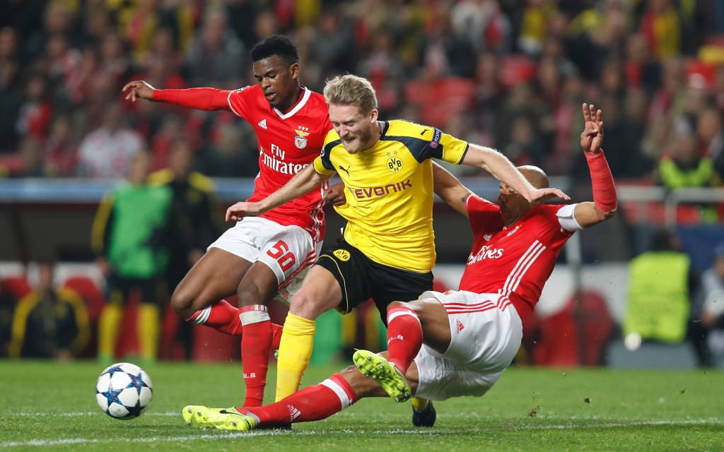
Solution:
M332 129L327 103L300 85L299 55L284 35L271 35L251 49L257 84L238 90L156 90L143 81L123 88L126 99L174 103L200 110L227 110L256 131L259 174L249 201L266 198L319 156ZM322 184L258 218L244 218L209 246L171 297L188 322L242 336L245 406L264 398L269 354L281 327L272 325L267 304L301 281L319 255L324 237ZM238 295L239 309L223 300ZM219 301L221 300L221 301ZM242 334L243 331L243 334Z

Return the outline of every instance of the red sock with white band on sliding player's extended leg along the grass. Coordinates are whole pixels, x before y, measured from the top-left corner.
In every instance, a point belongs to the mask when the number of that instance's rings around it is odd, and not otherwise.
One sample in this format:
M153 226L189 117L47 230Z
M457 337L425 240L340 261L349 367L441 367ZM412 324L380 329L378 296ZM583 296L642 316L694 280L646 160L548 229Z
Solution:
M319 421L341 412L357 401L352 387L340 374L316 386L308 386L275 404L238 411L258 419L260 424Z

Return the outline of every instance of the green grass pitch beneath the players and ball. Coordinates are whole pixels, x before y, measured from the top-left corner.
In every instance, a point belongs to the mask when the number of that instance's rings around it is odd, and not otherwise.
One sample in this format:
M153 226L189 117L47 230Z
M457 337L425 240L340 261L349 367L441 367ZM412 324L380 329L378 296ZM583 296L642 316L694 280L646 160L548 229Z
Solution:
M343 366L311 367L302 385ZM186 404L243 400L241 366L162 362L153 401L130 421L96 405L95 362L0 361L0 449L8 451L724 451L724 373L512 367L482 398L439 402L417 429L409 404L365 399L291 431L193 430ZM271 367L266 400L272 401Z

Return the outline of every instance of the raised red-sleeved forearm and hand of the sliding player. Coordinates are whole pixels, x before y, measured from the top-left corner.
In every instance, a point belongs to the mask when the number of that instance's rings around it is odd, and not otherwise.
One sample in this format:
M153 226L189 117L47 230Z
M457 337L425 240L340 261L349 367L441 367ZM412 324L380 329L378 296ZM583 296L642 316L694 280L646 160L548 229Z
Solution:
M603 144L602 111L593 105L583 104L586 124L581 132L581 148L591 171L593 202L581 202L573 210L573 216L581 227L589 228L613 217L616 210L616 187L601 145Z

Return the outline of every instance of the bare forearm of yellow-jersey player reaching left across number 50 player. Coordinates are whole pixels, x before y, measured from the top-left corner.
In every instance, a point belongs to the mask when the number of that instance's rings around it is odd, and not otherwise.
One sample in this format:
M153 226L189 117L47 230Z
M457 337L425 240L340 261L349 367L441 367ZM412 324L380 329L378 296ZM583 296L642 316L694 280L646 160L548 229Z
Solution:
M260 216L262 213L279 207L286 202L306 195L314 187L319 187L334 176L334 173L322 175L314 170L313 165L307 166L292 177L284 187L258 202L237 202L227 209L227 221L242 221L247 216Z

